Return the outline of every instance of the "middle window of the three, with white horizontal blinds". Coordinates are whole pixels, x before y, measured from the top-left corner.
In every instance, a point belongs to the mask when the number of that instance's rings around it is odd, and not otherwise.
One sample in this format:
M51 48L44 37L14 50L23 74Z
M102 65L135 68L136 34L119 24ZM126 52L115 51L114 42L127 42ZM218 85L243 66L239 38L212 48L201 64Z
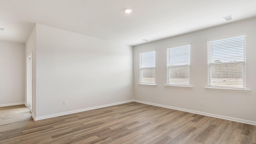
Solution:
M167 48L167 85L190 86L190 45Z

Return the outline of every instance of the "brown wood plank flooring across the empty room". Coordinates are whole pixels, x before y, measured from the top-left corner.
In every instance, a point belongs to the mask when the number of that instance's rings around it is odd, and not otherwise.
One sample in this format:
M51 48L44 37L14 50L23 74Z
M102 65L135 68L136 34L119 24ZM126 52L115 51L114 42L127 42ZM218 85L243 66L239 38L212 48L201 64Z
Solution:
M34 121L0 107L0 144L256 144L256 126L137 102Z

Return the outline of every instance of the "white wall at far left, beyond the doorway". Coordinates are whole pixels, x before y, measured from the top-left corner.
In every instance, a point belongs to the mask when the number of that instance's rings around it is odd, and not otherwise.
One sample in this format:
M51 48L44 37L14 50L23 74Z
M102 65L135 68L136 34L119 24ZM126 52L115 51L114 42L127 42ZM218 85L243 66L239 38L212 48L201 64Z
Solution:
M25 44L0 40L0 106L25 101Z

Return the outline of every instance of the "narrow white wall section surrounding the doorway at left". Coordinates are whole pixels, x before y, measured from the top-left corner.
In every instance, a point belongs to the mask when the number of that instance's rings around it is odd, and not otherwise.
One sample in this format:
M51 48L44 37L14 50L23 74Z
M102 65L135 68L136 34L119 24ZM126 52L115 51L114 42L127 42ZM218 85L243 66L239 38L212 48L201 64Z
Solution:
M36 116L36 25L34 26L28 40L26 41L26 70L27 59L32 54L32 114ZM27 71L26 71L27 72ZM26 90L27 90L27 78L26 78ZM27 97L27 95L26 95ZM27 102L27 99L26 101Z

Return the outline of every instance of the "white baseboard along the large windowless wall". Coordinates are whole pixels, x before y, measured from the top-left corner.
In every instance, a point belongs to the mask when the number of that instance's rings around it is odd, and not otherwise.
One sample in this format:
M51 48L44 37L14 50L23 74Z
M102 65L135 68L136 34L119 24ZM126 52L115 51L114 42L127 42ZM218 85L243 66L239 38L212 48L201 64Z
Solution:
M123 102L116 102L116 103L112 103L112 104L105 104L105 105L102 105L102 106L94 106L94 107L84 108L84 109L80 109L80 110L72 110L72 111L62 112L62 113L58 113L58 114L51 114L51 115L48 115L48 116L35 117L32 114L32 117L34 118L35 121L36 120L44 120L44 119L47 119L47 118L54 118L54 117L57 117L57 116L64 116L64 115L67 115L67 114L74 114L74 113L77 113L77 112L84 112L84 111L94 110L94 109L98 109L98 108L105 108L105 107L108 107L108 106L115 106L115 105L124 104L124 103L127 103L127 102L133 102L133 100L127 100L127 101L123 101Z

